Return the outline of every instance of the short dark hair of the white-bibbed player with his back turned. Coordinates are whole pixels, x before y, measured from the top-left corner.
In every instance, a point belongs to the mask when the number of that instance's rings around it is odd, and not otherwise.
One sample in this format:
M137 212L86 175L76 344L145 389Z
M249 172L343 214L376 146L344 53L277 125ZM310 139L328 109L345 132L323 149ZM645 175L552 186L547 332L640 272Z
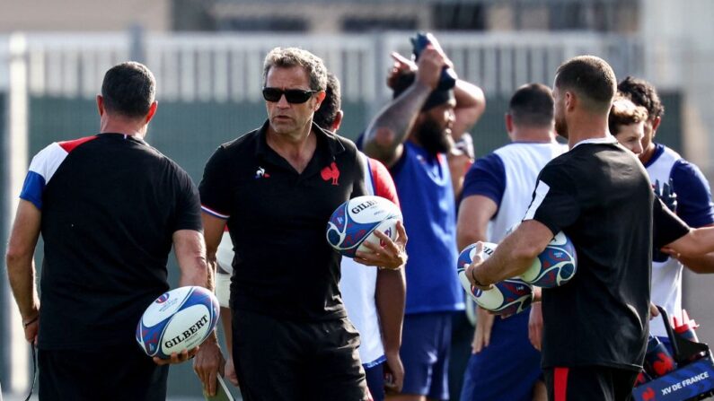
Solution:
M553 124L553 93L542 83L528 83L516 90L508 103L516 126L545 127Z

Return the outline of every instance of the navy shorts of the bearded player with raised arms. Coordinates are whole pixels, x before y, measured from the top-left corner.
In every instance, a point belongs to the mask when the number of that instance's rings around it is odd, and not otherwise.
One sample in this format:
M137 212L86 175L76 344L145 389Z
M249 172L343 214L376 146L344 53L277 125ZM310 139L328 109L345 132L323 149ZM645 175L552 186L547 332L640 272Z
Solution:
M449 399L449 353L454 312L415 313L404 316L401 362L402 394Z

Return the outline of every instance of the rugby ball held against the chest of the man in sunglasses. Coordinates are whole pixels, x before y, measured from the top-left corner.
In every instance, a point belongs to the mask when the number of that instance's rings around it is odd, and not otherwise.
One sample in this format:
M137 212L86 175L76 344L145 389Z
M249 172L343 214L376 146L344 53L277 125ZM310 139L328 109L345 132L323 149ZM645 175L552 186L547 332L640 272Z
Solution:
M375 231L396 240L398 221L402 221L401 210L392 201L380 196L357 196L332 213L327 223L327 241L343 256L355 257L357 251L371 252L365 242L380 244Z

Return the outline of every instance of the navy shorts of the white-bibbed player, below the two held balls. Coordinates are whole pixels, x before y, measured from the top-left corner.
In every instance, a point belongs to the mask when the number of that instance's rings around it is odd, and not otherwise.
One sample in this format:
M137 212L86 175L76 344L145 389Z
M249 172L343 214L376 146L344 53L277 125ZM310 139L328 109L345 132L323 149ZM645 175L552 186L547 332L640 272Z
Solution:
M471 355L461 401L531 401L540 379L541 353L528 340L528 310L505 319L496 317L489 346Z

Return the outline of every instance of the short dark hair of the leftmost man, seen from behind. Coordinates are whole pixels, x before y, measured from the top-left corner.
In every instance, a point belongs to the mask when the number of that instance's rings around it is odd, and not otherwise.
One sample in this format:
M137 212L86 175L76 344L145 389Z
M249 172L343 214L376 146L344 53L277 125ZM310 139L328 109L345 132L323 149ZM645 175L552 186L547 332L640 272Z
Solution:
M104 74L101 97L104 109L128 118L142 118L156 96L156 79L145 65L127 61Z

